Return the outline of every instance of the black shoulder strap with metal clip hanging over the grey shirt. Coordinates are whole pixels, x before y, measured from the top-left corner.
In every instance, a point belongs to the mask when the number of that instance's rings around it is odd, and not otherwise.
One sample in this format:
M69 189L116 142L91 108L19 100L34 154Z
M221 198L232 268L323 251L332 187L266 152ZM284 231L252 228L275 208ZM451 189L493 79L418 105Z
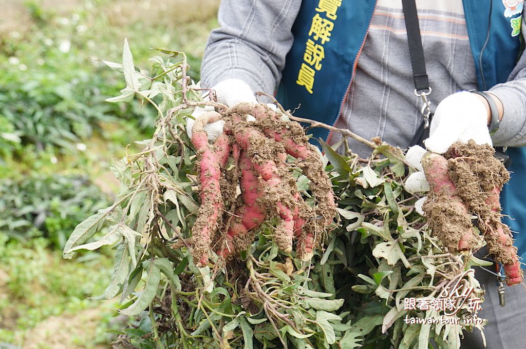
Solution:
M424 59L424 50L422 48L422 38L420 36L420 25L418 24L417 5L414 0L402 0L403 16L406 20L407 41L409 43L409 56L411 57L411 67L413 70L414 93L421 96L424 101L423 110L429 108L427 94L431 92L429 79L426 71L426 59ZM420 92L421 91L421 92ZM425 96L424 96L425 95ZM429 114L428 120L422 120L417 132L411 140L412 145L424 146L423 141L429 137L429 122L432 115Z

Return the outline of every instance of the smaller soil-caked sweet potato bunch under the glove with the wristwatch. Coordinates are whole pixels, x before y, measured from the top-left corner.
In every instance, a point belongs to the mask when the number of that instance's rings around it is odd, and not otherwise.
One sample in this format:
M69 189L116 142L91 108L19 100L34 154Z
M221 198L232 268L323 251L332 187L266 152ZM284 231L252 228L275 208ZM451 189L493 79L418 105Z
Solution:
M471 251L480 247L477 227L489 253L504 266L507 284L522 283L517 248L501 222L499 197L509 172L493 148L473 141L454 143L444 156L428 152L422 167L431 187L423 209L433 234L451 252Z

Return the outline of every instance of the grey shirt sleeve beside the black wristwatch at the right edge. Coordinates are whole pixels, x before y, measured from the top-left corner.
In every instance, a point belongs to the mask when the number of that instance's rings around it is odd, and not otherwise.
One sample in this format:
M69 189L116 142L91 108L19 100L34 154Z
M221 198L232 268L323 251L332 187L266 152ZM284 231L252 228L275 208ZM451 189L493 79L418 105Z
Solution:
M521 35L526 38L526 23L522 13ZM507 82L492 87L504 108L499 130L491 138L495 146L526 145L526 54L522 54Z

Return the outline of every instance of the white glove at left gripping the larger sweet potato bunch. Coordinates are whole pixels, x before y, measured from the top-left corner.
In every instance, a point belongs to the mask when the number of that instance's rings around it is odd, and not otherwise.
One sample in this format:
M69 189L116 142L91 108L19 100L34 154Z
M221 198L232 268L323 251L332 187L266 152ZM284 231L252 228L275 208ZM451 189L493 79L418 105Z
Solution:
M257 103L254 92L250 89L247 83L239 79L227 79L219 82L212 88L216 91L217 101L232 107L241 102ZM196 107L194 112L191 114L194 118L199 117L205 111L213 111L214 107L206 106L204 108ZM250 121L247 118L248 121ZM255 120L255 119L254 119ZM188 118L186 121L186 134L192 138L192 128L194 127L195 120ZM224 121L219 120L205 125L203 128L208 134L209 141L215 141L221 133L223 133Z

